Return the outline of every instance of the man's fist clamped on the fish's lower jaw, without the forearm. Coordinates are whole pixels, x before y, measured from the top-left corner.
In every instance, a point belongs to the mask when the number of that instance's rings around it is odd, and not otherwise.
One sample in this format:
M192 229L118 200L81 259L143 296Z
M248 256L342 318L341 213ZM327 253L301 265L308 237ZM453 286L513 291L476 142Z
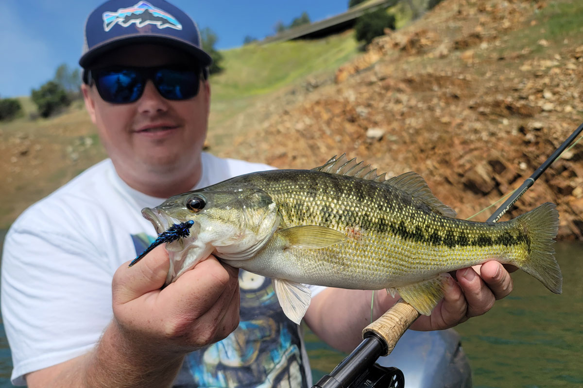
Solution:
M113 278L114 320L136 346L157 353L188 353L224 339L239 323L238 269L213 256L164 289L170 262L156 247Z

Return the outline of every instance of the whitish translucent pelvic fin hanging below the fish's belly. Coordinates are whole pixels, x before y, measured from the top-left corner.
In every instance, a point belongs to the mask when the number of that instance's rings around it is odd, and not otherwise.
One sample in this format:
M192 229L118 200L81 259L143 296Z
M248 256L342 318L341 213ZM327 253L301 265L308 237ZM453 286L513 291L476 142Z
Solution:
M273 279L273 289L287 318L298 325L312 301L312 291L304 284Z

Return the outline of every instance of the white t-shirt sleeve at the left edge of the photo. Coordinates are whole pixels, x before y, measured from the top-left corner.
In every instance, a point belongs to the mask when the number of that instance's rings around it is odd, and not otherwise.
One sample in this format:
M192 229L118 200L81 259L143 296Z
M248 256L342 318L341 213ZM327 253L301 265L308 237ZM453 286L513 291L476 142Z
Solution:
M113 274L95 247L67 230L43 229L47 223L15 223L3 248L2 316L15 385L89 351L112 316Z

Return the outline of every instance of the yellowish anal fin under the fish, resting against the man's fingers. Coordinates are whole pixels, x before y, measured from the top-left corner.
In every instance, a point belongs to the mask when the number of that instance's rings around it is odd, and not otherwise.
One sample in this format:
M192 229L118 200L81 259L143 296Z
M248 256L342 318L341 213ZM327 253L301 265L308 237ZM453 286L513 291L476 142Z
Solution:
M431 311L443 297L449 277L447 273L442 273L433 279L396 289L403 300L415 307L419 314L431 315Z

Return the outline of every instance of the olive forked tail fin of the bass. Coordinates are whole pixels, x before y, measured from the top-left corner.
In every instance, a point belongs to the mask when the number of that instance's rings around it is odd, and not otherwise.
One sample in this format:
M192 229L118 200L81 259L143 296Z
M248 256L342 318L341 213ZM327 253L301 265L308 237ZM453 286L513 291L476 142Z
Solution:
M518 264L520 269L536 277L547 289L560 294L563 285L561 269L554 258L554 238L559 232L556 205L546 202L516 218L530 239L530 255Z

